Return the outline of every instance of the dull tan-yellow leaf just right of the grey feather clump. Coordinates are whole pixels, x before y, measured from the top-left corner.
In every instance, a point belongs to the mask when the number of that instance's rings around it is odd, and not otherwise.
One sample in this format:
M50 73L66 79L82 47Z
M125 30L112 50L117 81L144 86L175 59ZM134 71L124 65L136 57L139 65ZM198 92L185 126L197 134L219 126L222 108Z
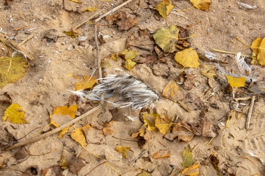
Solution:
M178 89L179 89L179 87L178 87L177 83L174 80L171 80L166 85L165 89L163 90L163 96L165 96L167 99L172 100L173 102L177 103L177 101L183 99L183 96Z

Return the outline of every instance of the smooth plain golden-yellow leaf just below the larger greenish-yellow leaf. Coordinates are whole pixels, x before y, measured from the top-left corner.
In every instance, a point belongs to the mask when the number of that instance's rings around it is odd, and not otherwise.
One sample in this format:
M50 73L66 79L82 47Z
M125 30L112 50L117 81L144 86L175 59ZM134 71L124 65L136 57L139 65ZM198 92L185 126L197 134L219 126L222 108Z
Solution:
M199 56L192 48L187 48L177 52L175 60L184 67L197 68L200 65Z

